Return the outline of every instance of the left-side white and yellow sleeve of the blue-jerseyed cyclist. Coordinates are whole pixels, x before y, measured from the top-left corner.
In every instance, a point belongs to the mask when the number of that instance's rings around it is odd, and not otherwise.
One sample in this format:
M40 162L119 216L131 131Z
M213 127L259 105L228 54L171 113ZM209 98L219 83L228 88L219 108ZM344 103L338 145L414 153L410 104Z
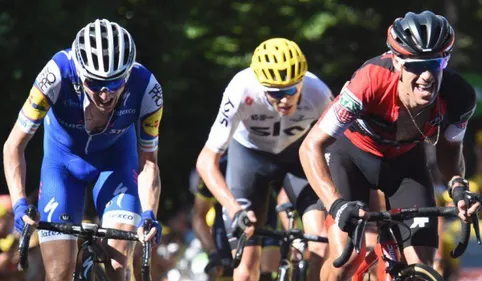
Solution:
M57 102L62 76L54 60L50 60L35 79L30 94L18 114L17 124L27 134L34 134L52 104Z

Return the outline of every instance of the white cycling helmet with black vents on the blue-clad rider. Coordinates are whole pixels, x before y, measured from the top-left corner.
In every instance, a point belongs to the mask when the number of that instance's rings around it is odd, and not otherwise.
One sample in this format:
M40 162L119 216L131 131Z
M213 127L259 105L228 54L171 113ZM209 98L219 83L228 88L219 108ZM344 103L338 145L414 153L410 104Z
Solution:
M132 36L106 19L82 28L72 43L72 53L81 78L102 81L127 77L136 60Z

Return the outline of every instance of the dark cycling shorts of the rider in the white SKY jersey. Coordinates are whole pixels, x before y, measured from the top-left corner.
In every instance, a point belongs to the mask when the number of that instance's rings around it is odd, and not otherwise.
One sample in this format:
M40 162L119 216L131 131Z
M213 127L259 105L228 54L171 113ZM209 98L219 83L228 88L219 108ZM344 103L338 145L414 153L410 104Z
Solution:
M228 148L226 181L229 190L243 208L254 211L256 227L267 222L272 183L283 183L286 193L298 213L317 207L318 197L308 185L298 150L303 138L288 146L278 154L249 149L232 140ZM226 230L231 232L231 220L224 216ZM236 240L230 239L235 246ZM259 245L261 241L252 240L249 244Z

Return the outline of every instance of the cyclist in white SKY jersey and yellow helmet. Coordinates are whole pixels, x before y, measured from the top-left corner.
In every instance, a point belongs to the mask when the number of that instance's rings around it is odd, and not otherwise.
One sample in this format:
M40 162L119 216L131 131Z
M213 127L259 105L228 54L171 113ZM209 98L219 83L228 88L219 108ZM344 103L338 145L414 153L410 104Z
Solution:
M306 132L332 100L329 88L307 72L298 45L282 38L269 39L254 51L251 66L227 86L218 116L202 149L197 169L224 207L227 232L250 238L254 227L264 226L270 182L282 182L305 231L323 234L323 213L308 186L298 157ZM228 149L226 179L219 159ZM261 248L250 239L234 280L258 280ZM318 278L323 244L310 244L311 278Z

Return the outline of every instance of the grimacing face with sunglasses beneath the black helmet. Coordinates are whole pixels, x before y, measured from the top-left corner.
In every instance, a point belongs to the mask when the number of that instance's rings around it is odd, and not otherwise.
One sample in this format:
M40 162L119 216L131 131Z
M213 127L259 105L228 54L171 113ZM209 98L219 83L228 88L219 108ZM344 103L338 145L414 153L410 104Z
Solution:
M440 90L448 58L398 60L401 71L399 93L407 95L412 106L431 104Z

